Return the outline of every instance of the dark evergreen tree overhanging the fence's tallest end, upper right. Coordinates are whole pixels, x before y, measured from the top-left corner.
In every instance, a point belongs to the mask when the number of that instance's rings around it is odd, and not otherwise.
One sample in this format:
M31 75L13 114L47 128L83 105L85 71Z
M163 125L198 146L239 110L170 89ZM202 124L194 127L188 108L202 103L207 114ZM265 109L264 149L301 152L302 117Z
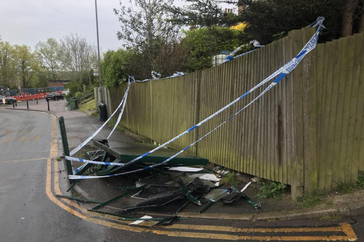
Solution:
M239 0L242 10L238 17L247 23L245 31L252 39L266 44L324 16L326 29L320 41L330 41L352 34L357 3L357 0Z

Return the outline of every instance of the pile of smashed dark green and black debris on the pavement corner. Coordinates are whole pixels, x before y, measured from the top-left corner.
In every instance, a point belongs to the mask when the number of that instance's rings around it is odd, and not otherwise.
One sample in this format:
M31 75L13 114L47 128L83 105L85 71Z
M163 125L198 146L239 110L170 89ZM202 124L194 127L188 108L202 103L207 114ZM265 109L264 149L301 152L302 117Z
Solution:
M86 153L89 161L93 163L88 162L75 169L74 174L84 174L88 177L105 175L111 177L122 169L125 174L122 176L123 179L127 179L128 185L133 180L135 185L125 186L125 183L118 183L120 186L112 186L112 189L122 191L122 193L106 202L87 200L87 202L99 203L99 205L90 209L91 211L118 216L120 220L134 221L131 224L156 221L154 226L157 226L167 225L175 220L187 219L179 217L178 213L190 203L201 206L201 209L198 209L198 214L205 212L218 201L227 206L236 206L247 202L252 206L252 209L261 208L259 202L254 202L244 193L244 190L248 188L251 182L241 190L233 185L221 184L221 179L234 176L235 172L230 172L229 169L221 166L216 166L213 169L202 168L202 165L207 164L207 159L190 157L186 154L174 160L174 163L161 164L158 165L158 168L153 167L153 165L150 165L151 161L158 163L158 160L165 159L163 156L169 155L165 153L168 152L168 149L162 149L159 153L155 152L154 156L147 156L148 159L142 159L138 163L119 165L121 160L127 162L127 159L132 160L138 156L137 153L133 153L135 149L131 149L131 145L123 144L122 147L110 147L107 140L94 140L94 144L97 144L100 149ZM150 147L146 147L146 149L148 148ZM186 165L194 167L187 167ZM138 173L127 172L136 169L140 171ZM80 180L75 180L70 189ZM72 199L72 197L67 198ZM122 209L115 212L103 211L106 210L102 209L106 205L121 199L128 200L124 207L121 206ZM168 216L165 218L150 216L156 212Z

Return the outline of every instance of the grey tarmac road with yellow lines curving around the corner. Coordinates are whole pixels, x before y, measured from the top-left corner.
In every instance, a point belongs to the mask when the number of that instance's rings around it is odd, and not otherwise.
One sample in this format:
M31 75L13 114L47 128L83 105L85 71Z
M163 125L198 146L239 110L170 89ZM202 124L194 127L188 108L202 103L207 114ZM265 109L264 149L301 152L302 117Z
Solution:
M61 184L65 181L63 173L59 173L59 169L64 169L63 162L52 159L58 155L50 157L52 149L57 149L52 145L54 133L58 132L55 124L52 116L44 112L0 107L0 241L353 240L353 237L345 237L339 223L344 223L346 228L349 226L345 231L353 229L357 241L364 241L363 215L341 221L252 222L189 218L169 228L131 227L109 217L92 214L87 217L78 208L83 203L72 205L67 199L54 197L59 193L58 180ZM245 231L246 228L251 229ZM272 228L281 230L274 232ZM294 230L288 232L287 228ZM317 231L313 231L315 229Z

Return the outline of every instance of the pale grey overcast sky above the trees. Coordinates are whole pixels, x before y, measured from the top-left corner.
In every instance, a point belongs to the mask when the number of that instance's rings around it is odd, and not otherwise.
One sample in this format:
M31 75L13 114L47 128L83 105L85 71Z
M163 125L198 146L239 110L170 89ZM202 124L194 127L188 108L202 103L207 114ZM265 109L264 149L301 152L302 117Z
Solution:
M123 42L116 33L120 29L113 9L119 0L98 0L99 41L103 51L118 49ZM122 0L129 5L128 0ZM175 1L183 5L184 1ZM226 6L222 6L226 7ZM4 0L0 6L0 35L12 45L29 45L65 34L78 33L96 44L94 0Z

